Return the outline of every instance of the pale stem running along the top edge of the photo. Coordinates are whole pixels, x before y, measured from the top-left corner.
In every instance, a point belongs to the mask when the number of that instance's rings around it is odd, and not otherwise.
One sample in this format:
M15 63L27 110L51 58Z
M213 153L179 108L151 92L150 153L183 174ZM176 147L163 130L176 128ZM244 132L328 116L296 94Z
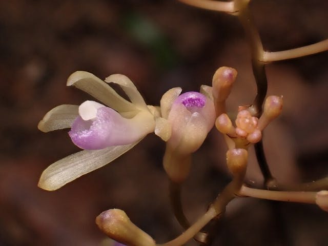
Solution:
M234 2L221 2L221 1L211 1L211 0L178 0L181 3L185 3L194 7L209 9L214 11L221 11L227 13L235 12Z

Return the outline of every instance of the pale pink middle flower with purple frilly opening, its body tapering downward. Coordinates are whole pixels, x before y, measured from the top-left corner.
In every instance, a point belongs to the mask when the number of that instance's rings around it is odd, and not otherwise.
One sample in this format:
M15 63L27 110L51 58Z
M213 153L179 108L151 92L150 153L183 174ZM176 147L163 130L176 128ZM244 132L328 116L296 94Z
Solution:
M183 93L173 101L168 114L171 137L163 158L172 181L182 182L188 176L190 155L202 145L214 120L213 101L199 92Z

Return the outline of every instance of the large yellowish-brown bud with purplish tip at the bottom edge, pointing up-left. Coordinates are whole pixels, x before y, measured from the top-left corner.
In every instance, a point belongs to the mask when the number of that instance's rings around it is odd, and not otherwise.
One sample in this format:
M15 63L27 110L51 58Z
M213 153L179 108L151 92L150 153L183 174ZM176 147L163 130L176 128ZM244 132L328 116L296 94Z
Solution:
M99 229L110 238L133 246L154 246L154 239L131 222L127 214L119 209L110 209L96 218Z

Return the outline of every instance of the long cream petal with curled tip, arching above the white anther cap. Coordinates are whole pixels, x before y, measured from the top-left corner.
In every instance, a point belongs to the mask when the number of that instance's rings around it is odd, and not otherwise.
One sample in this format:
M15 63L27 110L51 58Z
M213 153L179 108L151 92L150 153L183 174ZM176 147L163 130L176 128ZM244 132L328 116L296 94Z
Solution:
M94 98L117 112L136 110L136 107L130 103L130 101L118 95L113 88L92 73L76 71L67 79L67 86L75 86L78 89L89 93Z

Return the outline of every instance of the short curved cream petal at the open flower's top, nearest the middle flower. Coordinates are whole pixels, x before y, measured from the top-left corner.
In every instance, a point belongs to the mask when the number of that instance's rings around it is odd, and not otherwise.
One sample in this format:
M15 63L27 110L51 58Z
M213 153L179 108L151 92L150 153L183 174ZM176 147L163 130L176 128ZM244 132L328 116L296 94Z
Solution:
M112 74L107 77L105 81L107 83L112 82L119 85L137 108L148 110L144 98L141 96L141 94L139 93L135 85L132 83L130 78L123 74Z

